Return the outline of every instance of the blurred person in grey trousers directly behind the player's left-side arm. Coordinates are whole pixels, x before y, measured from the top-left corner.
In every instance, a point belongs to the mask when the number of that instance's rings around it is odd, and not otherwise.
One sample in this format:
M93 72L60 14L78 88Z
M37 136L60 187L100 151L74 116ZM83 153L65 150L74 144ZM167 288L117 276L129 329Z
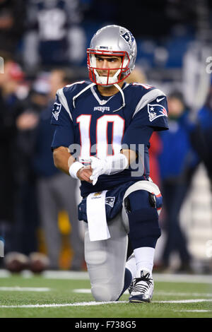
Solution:
M57 90L70 83L66 71L55 69L49 76L48 107L40 114L37 126L37 138L33 153L33 167L37 175L37 195L41 225L44 230L49 268L59 268L61 252L61 234L58 226L59 211L66 211L71 223L70 242L73 248L71 270L83 268L83 240L79 234L79 222L76 203L76 181L60 172L52 158L51 143L54 126L51 126L52 107Z

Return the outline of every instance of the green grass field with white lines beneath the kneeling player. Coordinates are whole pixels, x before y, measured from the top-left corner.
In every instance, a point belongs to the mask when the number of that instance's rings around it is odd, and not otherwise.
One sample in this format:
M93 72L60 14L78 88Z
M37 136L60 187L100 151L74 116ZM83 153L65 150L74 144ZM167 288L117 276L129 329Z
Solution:
M0 270L0 318L212 317L211 276L156 274L154 280L151 304L131 304L127 294L100 303L90 293L87 273L7 276Z

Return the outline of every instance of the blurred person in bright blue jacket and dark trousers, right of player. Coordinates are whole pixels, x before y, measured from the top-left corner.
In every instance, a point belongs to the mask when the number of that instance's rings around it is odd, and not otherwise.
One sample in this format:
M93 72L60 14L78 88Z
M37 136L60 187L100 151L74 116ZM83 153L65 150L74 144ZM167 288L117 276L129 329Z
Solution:
M180 259L177 271L191 272L192 257L187 249L187 239L179 225L179 212L191 184L198 158L192 149L192 122L189 121L189 109L182 94L170 94L168 107L170 130L160 133L163 148L159 155L167 235L162 255L163 268L170 267L170 256L177 252Z

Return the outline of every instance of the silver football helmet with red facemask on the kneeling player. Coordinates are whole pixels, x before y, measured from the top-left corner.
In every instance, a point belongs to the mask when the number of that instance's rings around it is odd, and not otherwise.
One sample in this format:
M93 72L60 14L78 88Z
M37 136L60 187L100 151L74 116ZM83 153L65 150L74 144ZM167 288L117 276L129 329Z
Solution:
M90 80L99 85L114 85L129 76L134 69L137 47L136 40L129 30L119 25L107 25L98 30L90 41L88 54L88 71ZM99 76L96 66L97 55L110 55L122 57L122 64L117 68L114 76L110 76L107 69L107 76Z

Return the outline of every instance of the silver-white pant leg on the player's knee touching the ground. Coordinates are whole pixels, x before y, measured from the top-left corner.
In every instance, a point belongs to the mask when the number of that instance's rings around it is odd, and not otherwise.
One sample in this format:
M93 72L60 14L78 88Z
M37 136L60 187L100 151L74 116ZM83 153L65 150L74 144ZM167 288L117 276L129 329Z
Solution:
M115 301L124 287L128 236L121 213L108 223L110 239L90 242L85 223L85 259L96 301Z

